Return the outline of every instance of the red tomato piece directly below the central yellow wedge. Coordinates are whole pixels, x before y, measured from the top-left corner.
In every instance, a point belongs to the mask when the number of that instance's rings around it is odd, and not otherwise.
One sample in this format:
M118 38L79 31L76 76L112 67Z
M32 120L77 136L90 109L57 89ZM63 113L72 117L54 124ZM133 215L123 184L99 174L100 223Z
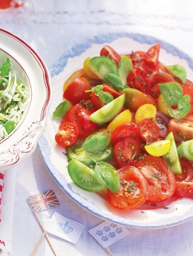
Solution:
M123 123L115 128L111 135L111 145L124 138L136 139L139 136L139 128L135 123Z

